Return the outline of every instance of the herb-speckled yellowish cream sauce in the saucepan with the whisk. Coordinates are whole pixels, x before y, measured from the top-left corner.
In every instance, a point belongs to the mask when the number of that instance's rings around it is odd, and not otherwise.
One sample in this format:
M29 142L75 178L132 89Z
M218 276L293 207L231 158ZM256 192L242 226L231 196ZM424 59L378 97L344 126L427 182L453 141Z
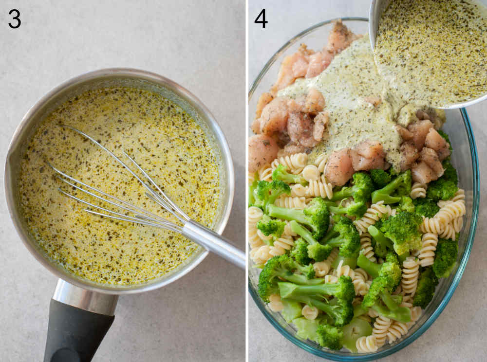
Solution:
M190 217L213 226L219 207L218 162L202 127L161 95L131 88L87 91L61 105L37 129L20 171L20 201L30 232L54 261L99 283L146 282L177 267L198 246L163 229L88 214L62 195L46 161L101 190L174 220L139 182L76 127L122 156L125 149ZM129 161L130 162L130 161Z

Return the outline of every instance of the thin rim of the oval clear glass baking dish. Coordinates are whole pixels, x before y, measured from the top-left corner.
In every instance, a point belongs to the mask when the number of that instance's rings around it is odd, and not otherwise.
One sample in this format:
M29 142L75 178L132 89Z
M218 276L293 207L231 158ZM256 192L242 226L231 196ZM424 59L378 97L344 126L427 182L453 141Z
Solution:
M338 20L338 19L341 19L343 21L354 21L354 20L355 21L368 21L367 18L362 18L362 17L334 18L334 19L319 22L318 24L315 24L315 25L303 30L298 35L293 36L284 45L282 45L281 48L274 55L272 55L272 57L267 61L265 66L262 68L262 71L259 72L259 74L257 75L256 79L252 83L252 86L249 90L248 99L250 100L254 91L257 89L257 86L261 82L261 79L264 76L264 74L277 61L277 59L279 58L279 56L281 56L282 53L284 53L289 47L291 47L293 44L295 44L296 41L298 39L300 39L302 36L305 36L305 35L311 33L312 31L314 31L315 29L317 29L321 26L330 24L331 22ZM461 109L459 109L459 111L462 115L465 130L467 132L468 142L469 142L469 147L470 147L470 156L472 159L472 176L473 176L473 199L472 199L472 216L471 216L472 222L470 224L470 230L468 231L468 238L467 238L467 242L465 245L465 253L463 254L463 257L459 262L457 272L455 273L453 279L451 280L450 287L446 291L445 297L443 298L441 303L433 311L430 318L428 318L423 323L422 326L420 326L410 336L401 340L401 342L399 342L398 344L393 345L391 348L388 348L387 350L383 350L383 351L368 353L368 354L357 354L357 355L352 355L352 356L343 356L343 355L337 355L334 353L330 353L327 350L314 348L311 345L306 344L303 341L300 341L298 338L296 338L294 335L292 335L289 331L284 329L278 323L278 321L264 308L263 302L262 302L260 296L252 288L252 283L251 283L250 276L249 276L248 277L248 290L249 290L249 293L252 296L252 299L254 300L255 304L261 310L262 314L270 322L270 324L272 326L274 326L284 337L286 337L293 344L296 344L300 348L304 349L307 352L312 353L315 356L327 358L327 359L330 359L333 361L372 361L372 360L376 360L379 358L389 356L389 355L401 350L402 348L406 347L407 345L411 344L412 342L414 342L419 336L421 336L433 324L433 322L436 320L436 318L438 318L438 316L441 314L443 309L445 309L445 307L447 306L448 302L451 299L451 296L453 295L453 292L455 291L456 287L458 286L460 279L462 278L463 272L465 271L465 267L467 266L468 257L470 255L470 251L471 251L473 241L475 238L475 232L476 232L476 227L477 227L477 219L478 219L478 214L479 214L479 204L480 204L480 171L479 171L479 162L478 162L478 156L477 156L477 146L475 145L475 138L473 135L471 124L470 124L470 119L468 118L467 110L465 108L461 108Z

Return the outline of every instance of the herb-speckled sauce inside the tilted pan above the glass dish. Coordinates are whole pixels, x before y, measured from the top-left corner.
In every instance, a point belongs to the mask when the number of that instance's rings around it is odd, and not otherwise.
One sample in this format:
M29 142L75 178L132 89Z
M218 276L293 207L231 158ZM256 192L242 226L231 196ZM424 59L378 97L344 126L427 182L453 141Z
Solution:
M487 7L392 0L375 42L378 73L407 103L448 108L487 93Z

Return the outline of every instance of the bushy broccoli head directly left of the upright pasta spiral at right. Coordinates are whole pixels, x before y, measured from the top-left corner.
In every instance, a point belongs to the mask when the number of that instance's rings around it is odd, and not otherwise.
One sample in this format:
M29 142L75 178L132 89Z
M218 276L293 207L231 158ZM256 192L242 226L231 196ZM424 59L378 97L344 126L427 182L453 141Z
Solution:
M417 214L401 211L382 221L380 231L394 243L394 251L398 254L413 249L421 249L421 233L419 225L423 218Z

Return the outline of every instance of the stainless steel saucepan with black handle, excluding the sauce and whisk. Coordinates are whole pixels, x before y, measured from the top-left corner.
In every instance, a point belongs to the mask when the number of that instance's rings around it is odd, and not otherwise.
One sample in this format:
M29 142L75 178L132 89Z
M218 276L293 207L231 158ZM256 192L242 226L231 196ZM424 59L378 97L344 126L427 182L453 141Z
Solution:
M24 147L39 123L59 105L87 90L127 86L151 90L178 104L200 124L222 161L219 208L213 230L221 234L228 221L234 194L230 149L211 112L188 90L151 72L135 69L103 69L70 79L42 97L24 116L14 133L5 164L5 195L10 217L27 249L50 272L59 277L49 310L44 361L90 361L114 319L118 296L161 288L195 268L208 254L199 247L186 262L167 274L144 284L116 286L99 284L68 272L49 258L30 234L19 202L19 164ZM53 187L56 187L53 184Z

